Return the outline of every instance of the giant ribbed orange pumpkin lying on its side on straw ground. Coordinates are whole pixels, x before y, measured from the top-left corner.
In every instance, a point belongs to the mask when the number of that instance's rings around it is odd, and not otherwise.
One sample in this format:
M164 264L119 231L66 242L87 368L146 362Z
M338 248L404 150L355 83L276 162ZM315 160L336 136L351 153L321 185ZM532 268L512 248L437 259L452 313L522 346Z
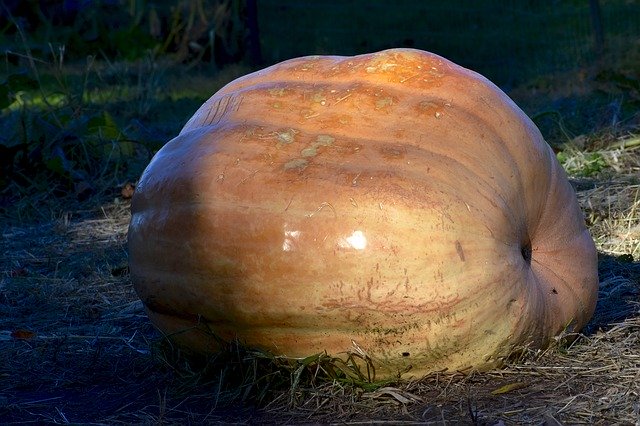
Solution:
M419 50L292 59L214 94L137 186L130 271L198 352L486 369L595 309L597 254L526 115Z

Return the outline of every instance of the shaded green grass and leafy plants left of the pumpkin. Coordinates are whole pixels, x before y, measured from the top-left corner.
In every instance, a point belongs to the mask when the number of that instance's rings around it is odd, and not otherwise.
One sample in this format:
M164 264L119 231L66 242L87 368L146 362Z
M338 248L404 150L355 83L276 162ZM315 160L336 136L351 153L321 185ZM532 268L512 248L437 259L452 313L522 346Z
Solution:
M187 79L183 67L152 58L68 64L29 53L5 64L0 82L0 212L17 219L117 195L204 100L248 72L204 69Z

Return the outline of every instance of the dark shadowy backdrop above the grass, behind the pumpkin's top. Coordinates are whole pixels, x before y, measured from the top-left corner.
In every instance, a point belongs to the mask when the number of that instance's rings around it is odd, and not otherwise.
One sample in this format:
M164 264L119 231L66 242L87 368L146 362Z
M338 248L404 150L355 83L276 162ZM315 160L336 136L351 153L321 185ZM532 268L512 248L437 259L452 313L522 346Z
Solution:
M70 59L103 54L131 60L153 51L180 61L207 63L213 56L218 66L259 66L310 54L414 47L508 88L599 59L631 65L640 50L640 3L633 0L2 3L4 50L21 41L17 23L34 51L47 51L49 43L65 45Z

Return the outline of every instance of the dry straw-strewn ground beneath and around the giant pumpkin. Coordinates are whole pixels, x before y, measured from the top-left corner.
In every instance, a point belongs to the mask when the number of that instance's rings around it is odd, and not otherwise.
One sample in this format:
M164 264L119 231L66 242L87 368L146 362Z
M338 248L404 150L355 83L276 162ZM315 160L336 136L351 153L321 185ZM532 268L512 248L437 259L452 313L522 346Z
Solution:
M0 222L0 423L639 425L640 150L599 152L604 169L574 179L600 252L584 335L500 370L411 382L371 384L326 355L283 360L234 345L187 359L132 290L126 202Z

